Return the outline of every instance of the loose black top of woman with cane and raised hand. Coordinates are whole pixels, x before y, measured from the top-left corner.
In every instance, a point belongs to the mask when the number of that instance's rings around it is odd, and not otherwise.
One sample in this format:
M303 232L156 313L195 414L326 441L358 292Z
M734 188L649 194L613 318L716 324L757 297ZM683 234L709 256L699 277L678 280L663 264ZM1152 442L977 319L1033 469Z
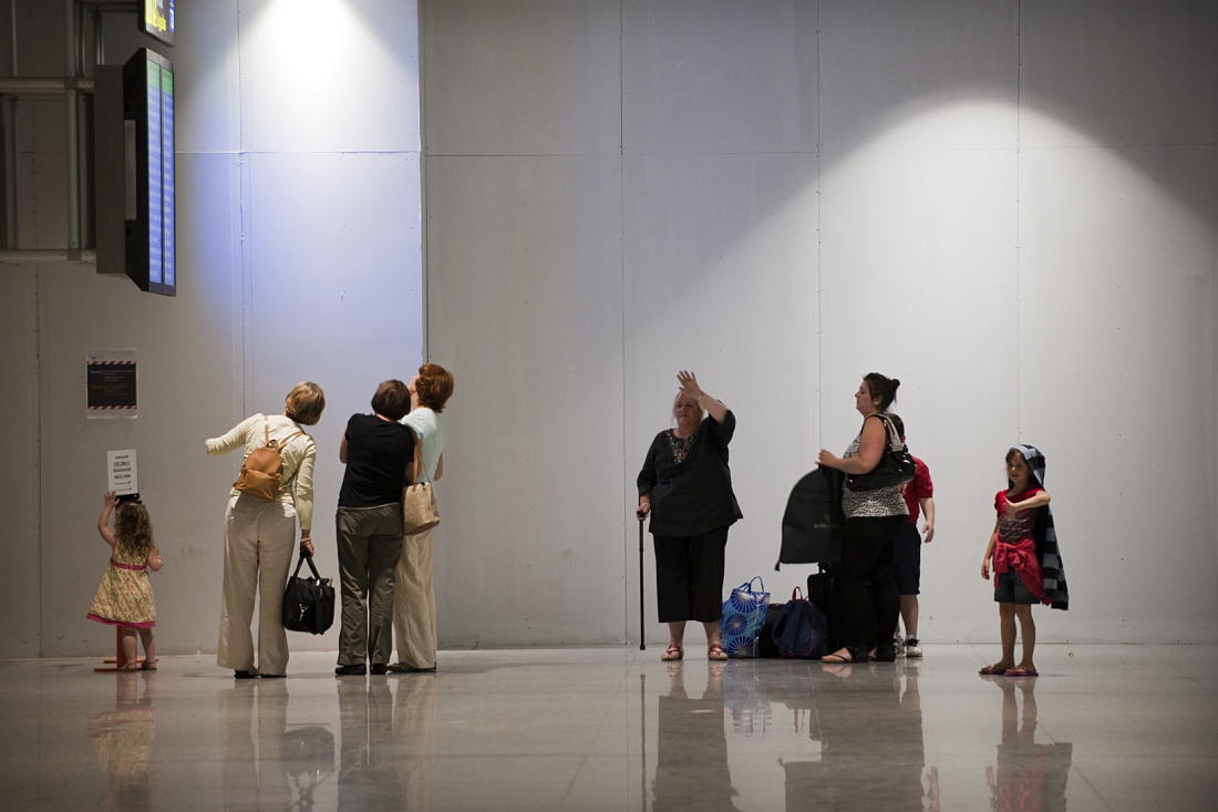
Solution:
M686 440L660 432L638 472L638 494L652 494L655 535L698 535L744 518L732 491L727 444L736 433L731 411L722 423L706 416Z

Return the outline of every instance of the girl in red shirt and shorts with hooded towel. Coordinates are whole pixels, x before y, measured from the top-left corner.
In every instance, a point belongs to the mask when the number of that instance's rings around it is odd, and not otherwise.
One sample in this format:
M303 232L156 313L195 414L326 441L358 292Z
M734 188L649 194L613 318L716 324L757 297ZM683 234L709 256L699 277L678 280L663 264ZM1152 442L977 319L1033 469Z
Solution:
M1029 446L1030 447L1030 446ZM1002 632L1002 658L980 669L983 674L1035 677L1032 661L1037 647L1037 624L1032 619L1034 604L1045 597L1044 573L1037 554L1033 528L1038 512L1049 504L1049 491L1040 486L1019 449L1006 454L1006 478L1010 488L994 497L998 522L982 560L982 578L989 580L994 566L994 600L998 601ZM1015 662L1015 622L1019 621L1023 657Z

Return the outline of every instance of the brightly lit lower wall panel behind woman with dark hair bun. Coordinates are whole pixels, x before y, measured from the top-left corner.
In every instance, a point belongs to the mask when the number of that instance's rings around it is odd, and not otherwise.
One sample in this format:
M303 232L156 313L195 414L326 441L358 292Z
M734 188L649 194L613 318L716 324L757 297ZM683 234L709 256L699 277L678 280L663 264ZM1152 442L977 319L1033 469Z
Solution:
M859 432L862 376L901 380L894 411L938 511L920 630L988 636L978 568L1018 441L1015 154L861 150L833 166L821 191L822 444L842 454Z

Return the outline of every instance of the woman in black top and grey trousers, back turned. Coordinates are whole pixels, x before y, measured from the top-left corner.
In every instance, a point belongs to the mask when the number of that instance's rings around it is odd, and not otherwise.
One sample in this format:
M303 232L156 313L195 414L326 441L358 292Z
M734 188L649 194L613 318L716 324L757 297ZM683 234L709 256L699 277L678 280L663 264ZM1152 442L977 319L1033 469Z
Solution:
M339 446L347 465L335 517L342 632L334 673L387 671L393 650L393 573L402 556L402 485L414 461L414 433L398 423L410 410L401 380L373 395L371 415L352 415Z

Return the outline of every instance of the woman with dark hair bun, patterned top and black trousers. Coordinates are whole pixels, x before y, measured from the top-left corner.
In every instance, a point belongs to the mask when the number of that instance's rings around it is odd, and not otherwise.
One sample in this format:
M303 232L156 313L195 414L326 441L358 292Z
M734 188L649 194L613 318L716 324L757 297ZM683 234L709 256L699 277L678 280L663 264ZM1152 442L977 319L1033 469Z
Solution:
M862 428L845 455L821 449L817 462L847 474L870 473L879 465L888 434L894 433L888 407L896 400L901 382L871 372L854 394L854 406L862 415ZM909 521L909 507L900 488L851 490L842 486L845 511L845 539L842 541L842 640L845 644L821 662L892 662L896 658L893 629L900 616L901 599L893 580L893 550L896 534Z

